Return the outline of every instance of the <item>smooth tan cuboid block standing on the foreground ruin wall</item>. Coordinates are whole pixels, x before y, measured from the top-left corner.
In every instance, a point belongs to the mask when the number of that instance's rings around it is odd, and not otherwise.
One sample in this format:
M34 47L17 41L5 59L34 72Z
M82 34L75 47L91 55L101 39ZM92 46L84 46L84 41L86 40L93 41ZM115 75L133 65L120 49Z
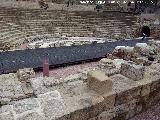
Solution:
M105 73L94 70L88 73L87 85L90 89L104 94L112 91L112 81L105 75Z

